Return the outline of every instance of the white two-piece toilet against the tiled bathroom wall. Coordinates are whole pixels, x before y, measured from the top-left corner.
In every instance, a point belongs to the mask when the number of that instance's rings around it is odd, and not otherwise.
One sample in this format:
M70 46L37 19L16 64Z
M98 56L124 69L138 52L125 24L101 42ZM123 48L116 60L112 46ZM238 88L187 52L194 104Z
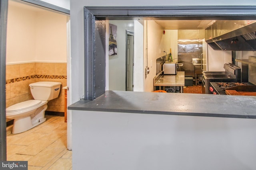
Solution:
M44 112L49 100L58 98L60 82L29 84L34 100L27 100L6 108L6 118L14 119L12 134L22 133L46 121Z

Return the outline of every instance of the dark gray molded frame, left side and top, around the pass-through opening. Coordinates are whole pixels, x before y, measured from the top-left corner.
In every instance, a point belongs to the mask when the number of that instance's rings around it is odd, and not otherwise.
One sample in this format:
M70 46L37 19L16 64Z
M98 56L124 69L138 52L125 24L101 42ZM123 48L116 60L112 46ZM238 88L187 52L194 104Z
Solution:
M85 6L85 100L94 100L105 93L105 83L102 82L106 80L106 70L95 71L97 62L106 63L106 49L102 43L106 39L95 35L96 25L97 30L106 31L104 24L97 24L104 20L256 20L256 6ZM95 50L96 46L101 49Z

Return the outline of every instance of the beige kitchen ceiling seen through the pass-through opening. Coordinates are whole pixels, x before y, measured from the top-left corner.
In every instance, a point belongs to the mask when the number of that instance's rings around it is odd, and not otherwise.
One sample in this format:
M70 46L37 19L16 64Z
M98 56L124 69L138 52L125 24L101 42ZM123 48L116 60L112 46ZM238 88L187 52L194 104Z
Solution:
M155 20L163 29L206 29L213 20Z

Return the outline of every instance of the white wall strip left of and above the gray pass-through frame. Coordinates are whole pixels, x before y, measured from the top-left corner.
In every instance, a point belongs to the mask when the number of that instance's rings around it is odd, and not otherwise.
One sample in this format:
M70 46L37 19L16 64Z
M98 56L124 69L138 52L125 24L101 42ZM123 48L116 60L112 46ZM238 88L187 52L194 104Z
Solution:
M204 6L204 5L256 5L255 0L70 0L71 56L72 56L72 102L84 95L84 6ZM106 77L107 78L107 77ZM152 84L152 83L151 83Z

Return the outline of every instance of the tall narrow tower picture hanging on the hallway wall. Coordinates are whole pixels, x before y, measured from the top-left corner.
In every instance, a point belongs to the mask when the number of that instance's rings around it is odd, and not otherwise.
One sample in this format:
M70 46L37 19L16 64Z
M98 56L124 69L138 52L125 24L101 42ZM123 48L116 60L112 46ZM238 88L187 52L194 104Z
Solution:
M108 55L117 55L117 26L109 24L109 31Z

